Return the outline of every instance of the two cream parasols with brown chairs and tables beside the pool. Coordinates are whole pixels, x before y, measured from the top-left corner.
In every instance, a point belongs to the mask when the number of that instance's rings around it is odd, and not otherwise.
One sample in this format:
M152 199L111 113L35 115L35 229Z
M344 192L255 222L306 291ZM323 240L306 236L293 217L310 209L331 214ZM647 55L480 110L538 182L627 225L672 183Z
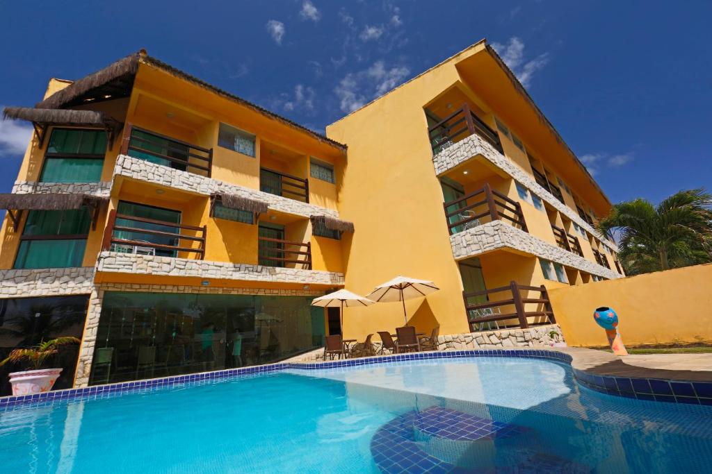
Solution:
M343 327L344 307L369 306L374 303L401 301L403 316L406 325L396 328L393 335L389 331L378 331L380 344L372 341L373 334L366 336L363 343L356 339L344 339L341 334L328 335L325 338L324 355L326 358L365 357L377 354L402 354L404 352L420 352L422 350L437 350L437 331L435 328L428 336L426 333L417 333L414 326L407 323L405 300L426 296L437 291L438 287L432 281L397 276L391 281L379 285L367 297L359 296L351 291L342 289L314 298L313 306L340 307L341 327Z

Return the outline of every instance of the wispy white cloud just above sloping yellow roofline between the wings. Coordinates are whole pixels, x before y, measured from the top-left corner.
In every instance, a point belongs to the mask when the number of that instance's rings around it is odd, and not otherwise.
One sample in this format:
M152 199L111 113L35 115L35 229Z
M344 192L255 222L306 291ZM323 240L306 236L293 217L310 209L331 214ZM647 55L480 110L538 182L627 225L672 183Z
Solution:
M348 114L366 102L384 95L400 85L409 73L410 70L404 65L389 68L382 60L376 61L365 70L350 72L334 89L341 111Z

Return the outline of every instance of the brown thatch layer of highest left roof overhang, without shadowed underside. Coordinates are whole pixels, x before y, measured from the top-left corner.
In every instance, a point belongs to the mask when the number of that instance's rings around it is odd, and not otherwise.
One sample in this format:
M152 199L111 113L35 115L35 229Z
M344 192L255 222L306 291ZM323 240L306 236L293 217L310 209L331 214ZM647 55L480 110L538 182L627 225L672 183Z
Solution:
M145 53L145 51L142 52ZM75 102L81 96L100 87L105 87L109 82L115 80L126 79L130 80L130 83L133 84L133 78L138 70L140 54L139 52L129 55L126 58L117 60L115 63L108 65L102 70L98 70L80 80L76 80L64 89L55 92L42 102L39 102L36 107L39 109L61 109Z

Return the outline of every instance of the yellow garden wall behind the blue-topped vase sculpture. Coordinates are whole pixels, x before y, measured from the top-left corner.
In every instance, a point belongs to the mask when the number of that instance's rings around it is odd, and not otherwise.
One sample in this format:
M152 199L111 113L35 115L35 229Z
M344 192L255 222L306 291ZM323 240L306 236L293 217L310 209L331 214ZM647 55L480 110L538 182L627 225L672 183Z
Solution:
M619 317L629 346L712 342L712 264L688 266L549 292L557 322L569 345L607 345L593 321L599 306Z

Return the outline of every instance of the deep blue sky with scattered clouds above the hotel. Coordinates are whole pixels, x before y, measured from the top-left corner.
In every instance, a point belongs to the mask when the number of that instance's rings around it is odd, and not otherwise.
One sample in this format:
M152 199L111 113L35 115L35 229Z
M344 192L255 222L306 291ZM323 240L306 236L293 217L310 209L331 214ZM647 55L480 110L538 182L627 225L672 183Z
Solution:
M712 190L712 2L0 0L0 105L150 55L305 126L487 38L614 202ZM29 128L0 121L0 192Z

